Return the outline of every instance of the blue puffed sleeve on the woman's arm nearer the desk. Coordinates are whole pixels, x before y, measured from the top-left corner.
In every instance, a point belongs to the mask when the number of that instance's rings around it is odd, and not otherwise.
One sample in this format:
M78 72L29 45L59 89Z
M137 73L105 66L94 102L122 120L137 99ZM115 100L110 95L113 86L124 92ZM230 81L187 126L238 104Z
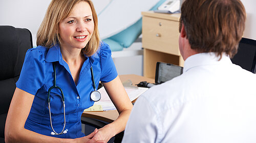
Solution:
M117 71L113 59L111 57L110 46L105 42L100 45L100 81L110 82L117 77Z

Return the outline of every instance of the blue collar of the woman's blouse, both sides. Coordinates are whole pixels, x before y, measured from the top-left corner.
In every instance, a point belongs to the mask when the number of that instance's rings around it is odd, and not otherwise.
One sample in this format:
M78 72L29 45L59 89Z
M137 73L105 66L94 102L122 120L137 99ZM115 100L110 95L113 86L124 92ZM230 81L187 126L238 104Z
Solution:
M58 55L58 56L56 56L56 55ZM95 58L99 58L98 51L95 52L92 56L84 55L84 57L86 59L89 58L91 63L93 63L95 61ZM57 62L57 61L59 61L59 63L62 63L62 60L63 59L62 59L62 54L60 52L59 44L56 44L53 47L49 48L48 53L46 55L46 62Z

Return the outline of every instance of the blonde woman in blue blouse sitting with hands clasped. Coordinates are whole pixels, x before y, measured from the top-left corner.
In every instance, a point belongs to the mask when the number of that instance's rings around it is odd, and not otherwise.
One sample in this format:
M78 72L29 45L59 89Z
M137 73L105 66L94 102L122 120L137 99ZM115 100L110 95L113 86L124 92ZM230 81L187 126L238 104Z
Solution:
M124 130L132 104L108 44L101 42L90 0L52 0L27 51L8 112L6 142L107 142ZM101 81L115 104L116 121L85 136L81 114ZM96 93L96 94L95 94Z

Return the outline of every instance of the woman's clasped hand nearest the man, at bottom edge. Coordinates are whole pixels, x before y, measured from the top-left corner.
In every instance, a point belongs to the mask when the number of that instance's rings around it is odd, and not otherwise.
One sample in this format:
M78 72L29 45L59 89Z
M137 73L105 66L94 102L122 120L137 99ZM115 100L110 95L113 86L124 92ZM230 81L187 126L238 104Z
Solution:
M96 142L97 140L104 140L105 142L108 142L113 136L115 136L115 134L113 134L110 125L106 125L103 128L100 128L88 143Z

